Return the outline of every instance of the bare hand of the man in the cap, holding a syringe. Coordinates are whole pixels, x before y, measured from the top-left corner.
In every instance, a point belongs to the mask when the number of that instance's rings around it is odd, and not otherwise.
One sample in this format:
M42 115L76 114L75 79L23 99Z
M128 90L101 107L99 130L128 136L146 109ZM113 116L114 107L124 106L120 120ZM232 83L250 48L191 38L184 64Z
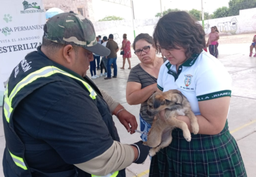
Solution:
M123 111L118 113L118 119L121 124L125 126L128 132L131 131L131 134L135 133L135 129L137 129L138 124L134 115L123 109Z

